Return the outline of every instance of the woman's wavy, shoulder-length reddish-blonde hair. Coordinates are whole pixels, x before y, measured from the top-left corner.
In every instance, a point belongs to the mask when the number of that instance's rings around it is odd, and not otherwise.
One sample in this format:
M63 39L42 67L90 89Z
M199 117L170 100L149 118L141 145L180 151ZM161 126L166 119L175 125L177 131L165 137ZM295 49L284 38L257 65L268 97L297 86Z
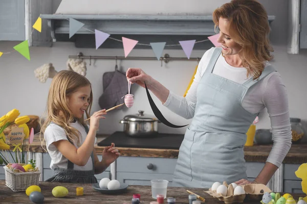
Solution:
M247 78L257 80L265 62L274 58L269 41L270 25L265 8L255 0L232 0L213 12L215 28L220 18L228 20L231 38L242 46L239 56L247 69Z

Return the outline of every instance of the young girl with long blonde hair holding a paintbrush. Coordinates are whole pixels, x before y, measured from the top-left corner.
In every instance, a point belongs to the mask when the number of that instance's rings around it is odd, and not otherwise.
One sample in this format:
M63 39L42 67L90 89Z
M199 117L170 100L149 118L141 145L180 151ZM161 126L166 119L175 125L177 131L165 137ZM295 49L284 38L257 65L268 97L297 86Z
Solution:
M52 80L45 122L40 134L46 141L54 175L47 181L69 183L97 183L94 174L103 172L120 153L114 143L104 148L99 161L94 149L99 120L105 109L91 116L90 126L83 119L89 117L93 101L91 83L74 71L59 71Z

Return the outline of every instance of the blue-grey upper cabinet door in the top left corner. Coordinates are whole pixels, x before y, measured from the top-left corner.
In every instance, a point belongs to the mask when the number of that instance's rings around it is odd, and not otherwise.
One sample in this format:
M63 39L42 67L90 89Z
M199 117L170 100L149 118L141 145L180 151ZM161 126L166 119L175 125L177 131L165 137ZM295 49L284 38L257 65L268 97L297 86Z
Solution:
M25 1L0 1L0 40L25 40Z

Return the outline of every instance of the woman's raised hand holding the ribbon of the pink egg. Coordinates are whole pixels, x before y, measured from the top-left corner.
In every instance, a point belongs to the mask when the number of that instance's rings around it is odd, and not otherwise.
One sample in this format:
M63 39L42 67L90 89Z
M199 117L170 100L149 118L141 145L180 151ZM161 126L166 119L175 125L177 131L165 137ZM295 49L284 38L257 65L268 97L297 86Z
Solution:
M150 86L153 82L153 79L140 68L129 68L126 71L126 77L127 80L131 82L131 84L136 83L143 88L145 88L145 81L148 89L150 89Z

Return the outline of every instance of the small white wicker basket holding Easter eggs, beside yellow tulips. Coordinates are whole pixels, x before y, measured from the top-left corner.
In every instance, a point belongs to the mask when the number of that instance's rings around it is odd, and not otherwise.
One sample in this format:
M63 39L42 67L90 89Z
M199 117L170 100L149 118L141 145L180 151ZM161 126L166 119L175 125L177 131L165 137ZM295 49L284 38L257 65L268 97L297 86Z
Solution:
M38 185L40 171L31 171L23 173L15 173L7 166L3 167L5 169L5 184L12 191L26 191L29 186Z

